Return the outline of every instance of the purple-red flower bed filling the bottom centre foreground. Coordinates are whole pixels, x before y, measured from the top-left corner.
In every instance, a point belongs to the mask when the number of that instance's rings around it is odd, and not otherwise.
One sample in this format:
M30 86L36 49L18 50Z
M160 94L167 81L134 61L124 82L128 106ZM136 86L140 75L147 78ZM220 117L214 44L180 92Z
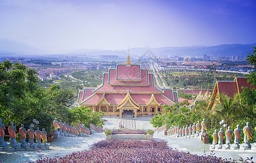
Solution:
M234 162L216 156L198 156L167 146L166 141L102 140L89 150L36 162Z

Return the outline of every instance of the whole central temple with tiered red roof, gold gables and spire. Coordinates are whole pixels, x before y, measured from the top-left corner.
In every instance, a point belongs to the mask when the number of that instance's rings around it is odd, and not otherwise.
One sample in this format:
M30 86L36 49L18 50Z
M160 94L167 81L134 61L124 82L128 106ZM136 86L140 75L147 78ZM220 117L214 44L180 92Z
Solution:
M103 73L103 83L96 88L79 91L77 102L104 115L152 115L164 112L165 105L178 102L178 93L154 85L154 75L132 64L128 54L126 64L117 64Z

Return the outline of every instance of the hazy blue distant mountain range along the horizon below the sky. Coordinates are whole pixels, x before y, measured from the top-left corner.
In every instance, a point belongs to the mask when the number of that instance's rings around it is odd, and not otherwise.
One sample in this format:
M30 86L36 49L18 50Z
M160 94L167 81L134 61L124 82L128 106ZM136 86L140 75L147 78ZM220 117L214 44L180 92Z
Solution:
M160 48L130 48L131 57L141 57L145 52L150 50L155 56L166 55L179 55L190 57L203 57L203 55L211 55L212 57L239 55L246 57L248 53L253 52L252 46L256 46L256 43L252 44L232 44L232 45L218 45L218 46L190 46L190 47L160 47ZM39 48L35 48L26 45L22 42L0 39L0 57L15 57L24 55L43 55L43 54L66 54L66 55L118 55L126 56L127 49L120 51L103 51L100 49L71 49L67 51L61 51L58 53L51 53Z

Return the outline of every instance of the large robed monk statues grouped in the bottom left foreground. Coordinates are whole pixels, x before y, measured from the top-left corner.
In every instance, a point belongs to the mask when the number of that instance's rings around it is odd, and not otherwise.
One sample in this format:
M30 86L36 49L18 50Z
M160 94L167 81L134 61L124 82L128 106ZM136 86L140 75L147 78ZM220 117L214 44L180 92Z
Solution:
M16 142L16 132L17 129L14 126L14 122L10 123L10 126L8 127L8 133L10 136L10 147L30 147L30 148L42 148L42 147L48 147L49 145L47 142L47 133L45 129L43 128L42 131L39 130L39 127L36 127L36 130L33 129L34 124L31 124L29 126L29 129L26 130L24 128L24 124L21 124L21 128L18 129L18 133L20 134L20 142ZM4 135L5 135L5 126L2 123L2 119L0 118L0 147L6 147L8 145L7 142L4 142ZM28 142L26 142L26 133L28 134ZM34 142L34 136L36 138L36 142Z

